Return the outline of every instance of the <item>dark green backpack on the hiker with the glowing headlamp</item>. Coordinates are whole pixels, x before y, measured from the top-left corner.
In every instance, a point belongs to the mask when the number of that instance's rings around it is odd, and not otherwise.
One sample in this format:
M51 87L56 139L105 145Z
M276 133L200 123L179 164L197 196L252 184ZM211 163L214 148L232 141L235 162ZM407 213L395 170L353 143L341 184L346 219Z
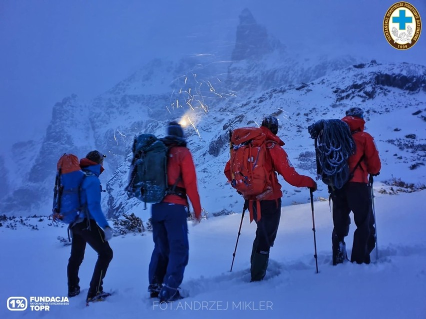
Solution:
M167 192L168 148L152 134L140 134L133 141L133 159L126 192L144 203L159 203Z

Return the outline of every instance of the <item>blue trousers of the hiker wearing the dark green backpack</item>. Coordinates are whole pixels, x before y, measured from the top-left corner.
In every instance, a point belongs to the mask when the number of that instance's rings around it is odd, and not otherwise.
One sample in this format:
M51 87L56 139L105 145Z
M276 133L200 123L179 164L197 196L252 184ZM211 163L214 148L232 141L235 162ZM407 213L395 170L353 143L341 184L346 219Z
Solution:
M152 205L154 250L149 263L149 284L177 289L188 264L188 213L185 206L170 203Z

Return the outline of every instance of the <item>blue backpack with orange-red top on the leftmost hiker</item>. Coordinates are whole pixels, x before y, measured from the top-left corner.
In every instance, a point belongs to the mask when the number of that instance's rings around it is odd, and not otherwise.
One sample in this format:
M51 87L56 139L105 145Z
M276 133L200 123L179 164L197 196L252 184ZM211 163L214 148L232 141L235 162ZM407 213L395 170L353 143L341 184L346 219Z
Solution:
M75 155L63 154L60 157L53 189L53 221L71 224L78 219L83 209L80 190L85 176Z

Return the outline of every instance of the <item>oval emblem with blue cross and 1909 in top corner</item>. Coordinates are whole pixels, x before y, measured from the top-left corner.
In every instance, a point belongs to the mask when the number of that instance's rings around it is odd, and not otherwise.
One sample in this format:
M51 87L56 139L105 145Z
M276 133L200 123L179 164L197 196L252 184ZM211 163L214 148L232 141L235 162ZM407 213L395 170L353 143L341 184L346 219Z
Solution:
M395 49L409 49L420 37L421 20L417 9L404 1L392 4L384 15L383 32Z

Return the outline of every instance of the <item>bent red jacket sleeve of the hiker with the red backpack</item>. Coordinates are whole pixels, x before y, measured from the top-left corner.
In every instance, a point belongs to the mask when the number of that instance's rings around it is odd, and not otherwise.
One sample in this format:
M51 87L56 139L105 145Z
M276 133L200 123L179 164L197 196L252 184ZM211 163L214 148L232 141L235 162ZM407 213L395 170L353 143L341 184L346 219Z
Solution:
M313 187L315 185L315 181L309 176L300 175L296 172L288 159L287 153L281 147L274 144L269 148L269 154L272 158L275 171L277 171L288 184L295 187Z

